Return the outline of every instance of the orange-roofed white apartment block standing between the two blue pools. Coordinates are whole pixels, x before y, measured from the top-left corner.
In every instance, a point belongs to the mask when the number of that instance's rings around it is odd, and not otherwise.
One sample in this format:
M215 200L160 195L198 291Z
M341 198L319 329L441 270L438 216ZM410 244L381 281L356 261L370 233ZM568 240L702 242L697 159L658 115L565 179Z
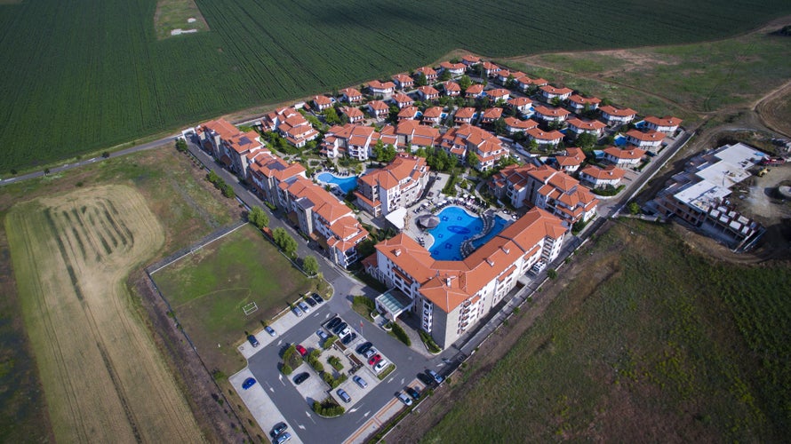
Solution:
M399 153L393 162L357 178L357 204L374 218L417 201L428 181L426 159Z

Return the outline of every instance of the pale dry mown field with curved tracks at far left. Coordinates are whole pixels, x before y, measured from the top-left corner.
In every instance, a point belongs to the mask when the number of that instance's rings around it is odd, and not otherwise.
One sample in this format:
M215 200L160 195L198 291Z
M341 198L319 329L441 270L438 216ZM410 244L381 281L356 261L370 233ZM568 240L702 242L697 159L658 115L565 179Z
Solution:
M50 194L15 205L5 223L55 439L204 440L126 287L164 243L143 196L129 186Z

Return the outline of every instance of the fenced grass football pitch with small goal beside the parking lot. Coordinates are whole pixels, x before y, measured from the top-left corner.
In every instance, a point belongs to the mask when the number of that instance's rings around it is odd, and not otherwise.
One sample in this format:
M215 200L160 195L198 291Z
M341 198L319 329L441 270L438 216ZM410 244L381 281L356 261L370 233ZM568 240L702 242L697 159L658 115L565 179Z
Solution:
M244 331L259 330L260 321L286 308L312 285L251 225L152 277L207 365L226 374L239 366L235 347ZM259 310L245 316L242 307L251 302Z

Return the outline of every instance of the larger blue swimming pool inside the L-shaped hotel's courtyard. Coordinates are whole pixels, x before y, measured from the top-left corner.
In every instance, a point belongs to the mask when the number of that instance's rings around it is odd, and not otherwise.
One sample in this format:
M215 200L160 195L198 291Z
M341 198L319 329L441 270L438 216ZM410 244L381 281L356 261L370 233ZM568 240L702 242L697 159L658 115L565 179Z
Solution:
M483 219L470 216L467 211L459 207L447 207L436 216L440 222L438 226L428 230L428 234L434 237L434 244L428 252L436 260L461 260L461 243L481 233ZM475 248L490 241L506 225L507 220L498 216L491 231L473 242Z

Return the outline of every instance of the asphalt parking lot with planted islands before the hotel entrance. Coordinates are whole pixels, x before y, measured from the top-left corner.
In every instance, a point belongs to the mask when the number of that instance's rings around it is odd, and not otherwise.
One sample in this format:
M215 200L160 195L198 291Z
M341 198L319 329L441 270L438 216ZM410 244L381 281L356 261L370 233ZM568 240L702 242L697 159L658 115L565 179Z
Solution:
M404 390L408 386L419 392L424 391L425 384L419 382L418 374L429 368L442 370L443 363L439 357L429 360L405 347L383 329L363 321L351 310L349 302L348 299L336 297L324 304L308 307L308 313L303 312L301 316L294 312L284 313L270 326L275 332L274 337L261 329L253 335L258 346L253 347L249 341L239 346L239 352L248 360L248 368L230 380L264 432L284 422L292 436L289 442L362 442L389 417L406 407L396 397L397 393L405 394ZM348 344L336 342L324 350L323 335L329 337L335 334L334 329L327 327L336 317L346 323L338 333L348 329ZM373 350L369 350L366 357L366 353L358 353L357 350L368 342L372 343ZM320 374L304 361L293 369L291 375L284 376L278 364L289 345L304 347L306 357L311 351L320 350L318 361L324 371L332 372L333 377L344 374L348 379L331 389ZM377 355L380 361L388 363L380 371L375 369L376 361L369 363ZM330 357L340 361L340 370L332 368L327 361ZM393 364L392 369L389 369L390 363ZM308 373L309 377L301 384L295 384L294 377L301 373ZM380 380L378 374L387 376ZM245 390L242 385L248 377L253 377L257 383ZM363 384L356 383L354 377L361 378ZM341 399L339 389L348 394L348 402ZM312 409L313 402L327 397L332 397L346 408L346 413L336 418L316 415Z

